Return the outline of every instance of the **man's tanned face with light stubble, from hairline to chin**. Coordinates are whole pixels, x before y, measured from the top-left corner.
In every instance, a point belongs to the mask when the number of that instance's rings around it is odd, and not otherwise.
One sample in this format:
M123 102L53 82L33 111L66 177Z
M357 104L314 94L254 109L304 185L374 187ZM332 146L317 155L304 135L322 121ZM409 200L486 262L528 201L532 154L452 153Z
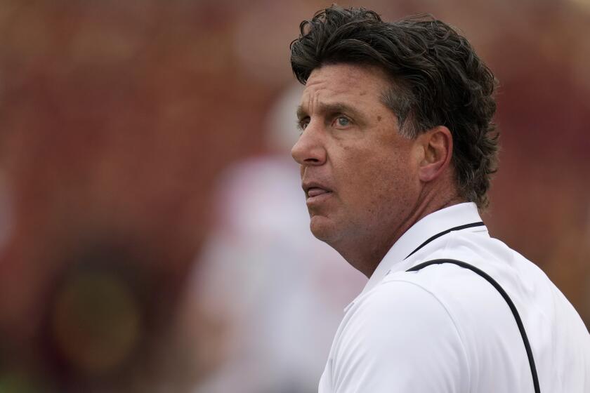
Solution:
M383 246L416 207L419 154L381 102L390 83L374 67L325 65L303 91L303 132L291 154L301 165L311 231L336 250Z

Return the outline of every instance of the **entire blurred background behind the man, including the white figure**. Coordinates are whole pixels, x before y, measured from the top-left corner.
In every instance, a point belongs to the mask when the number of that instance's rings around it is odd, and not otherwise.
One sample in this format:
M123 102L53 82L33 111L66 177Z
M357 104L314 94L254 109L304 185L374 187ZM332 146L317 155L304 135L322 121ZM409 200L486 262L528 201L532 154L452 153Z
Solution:
M0 0L0 392L309 393L365 278L308 232L289 67L329 1ZM484 218L590 324L589 0L364 1L497 74Z

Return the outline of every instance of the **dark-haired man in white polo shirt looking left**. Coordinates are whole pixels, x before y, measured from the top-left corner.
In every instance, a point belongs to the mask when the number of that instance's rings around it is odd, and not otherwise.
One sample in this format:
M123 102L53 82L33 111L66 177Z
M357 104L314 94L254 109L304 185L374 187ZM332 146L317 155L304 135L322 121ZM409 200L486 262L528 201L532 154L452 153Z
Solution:
M495 82L468 41L438 20L332 6L301 24L291 66L311 231L369 277L319 391L589 392L579 315L478 214Z

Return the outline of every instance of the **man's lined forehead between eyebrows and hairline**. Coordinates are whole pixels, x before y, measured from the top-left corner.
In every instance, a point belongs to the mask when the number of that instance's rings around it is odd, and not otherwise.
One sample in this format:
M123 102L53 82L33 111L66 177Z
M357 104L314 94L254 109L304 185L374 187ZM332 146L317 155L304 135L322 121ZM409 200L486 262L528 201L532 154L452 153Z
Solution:
M301 96L301 107L309 110L319 103L330 104L354 100L374 105L390 86L386 74L378 67L363 65L324 65L311 72Z

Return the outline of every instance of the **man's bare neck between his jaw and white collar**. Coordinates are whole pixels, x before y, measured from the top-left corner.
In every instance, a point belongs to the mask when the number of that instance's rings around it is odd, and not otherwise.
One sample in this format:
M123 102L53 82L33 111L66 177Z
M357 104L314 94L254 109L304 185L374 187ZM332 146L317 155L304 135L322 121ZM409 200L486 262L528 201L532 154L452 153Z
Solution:
M440 195L440 194L439 194ZM442 195L441 195L442 196ZM394 225L395 229L384 236L375 233L367 233L365 239L355 239L349 247L334 246L343 258L350 263L355 269L359 270L365 276L371 277L379 262L384 258L389 249L395 244L405 232L416 222L426 217L426 215L439 211L443 208L460 204L465 199L457 194L447 194L446 197L436 199L419 199L417 204L405 214L400 220L399 225ZM379 231L381 232L381 231ZM385 232L385 231L383 231Z

